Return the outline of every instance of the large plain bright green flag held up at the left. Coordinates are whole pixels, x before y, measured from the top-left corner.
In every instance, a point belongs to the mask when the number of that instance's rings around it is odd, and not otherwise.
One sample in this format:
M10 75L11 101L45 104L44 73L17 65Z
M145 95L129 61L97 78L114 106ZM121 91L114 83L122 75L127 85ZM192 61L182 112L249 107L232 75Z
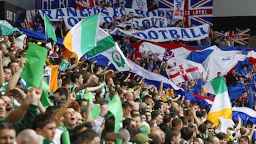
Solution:
M47 51L46 48L31 43L24 57L27 63L21 73L21 78L26 79L34 87L41 87Z

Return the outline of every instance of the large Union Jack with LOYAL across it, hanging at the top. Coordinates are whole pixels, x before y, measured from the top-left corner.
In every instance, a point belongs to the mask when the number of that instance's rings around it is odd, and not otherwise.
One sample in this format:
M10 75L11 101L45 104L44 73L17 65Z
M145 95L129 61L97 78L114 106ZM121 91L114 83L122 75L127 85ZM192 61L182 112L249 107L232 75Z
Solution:
M174 11L174 0L159 0L159 10ZM213 26L213 0L185 0L183 21L186 26Z

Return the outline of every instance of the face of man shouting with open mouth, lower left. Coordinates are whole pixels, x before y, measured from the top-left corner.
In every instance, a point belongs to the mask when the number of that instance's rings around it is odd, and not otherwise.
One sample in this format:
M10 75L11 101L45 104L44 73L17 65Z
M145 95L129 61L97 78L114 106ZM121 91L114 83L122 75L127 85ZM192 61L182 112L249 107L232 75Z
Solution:
M64 113L65 126L73 127L76 124L75 110L73 108L68 108Z

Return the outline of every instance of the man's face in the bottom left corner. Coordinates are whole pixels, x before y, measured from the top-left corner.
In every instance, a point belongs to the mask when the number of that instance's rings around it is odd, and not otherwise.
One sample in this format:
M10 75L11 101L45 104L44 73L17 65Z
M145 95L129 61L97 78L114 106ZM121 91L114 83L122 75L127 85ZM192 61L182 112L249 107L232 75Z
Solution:
M14 144L16 131L13 129L0 130L0 144Z

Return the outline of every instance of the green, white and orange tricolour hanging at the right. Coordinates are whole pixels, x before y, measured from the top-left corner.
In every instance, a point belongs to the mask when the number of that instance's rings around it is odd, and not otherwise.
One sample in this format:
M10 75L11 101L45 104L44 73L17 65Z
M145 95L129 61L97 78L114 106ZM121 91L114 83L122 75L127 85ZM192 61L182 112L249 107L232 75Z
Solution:
M215 94L213 106L210 108L207 119L213 121L214 126L218 125L220 117L232 119L232 105L224 77L213 79L206 83L203 89L205 92Z

